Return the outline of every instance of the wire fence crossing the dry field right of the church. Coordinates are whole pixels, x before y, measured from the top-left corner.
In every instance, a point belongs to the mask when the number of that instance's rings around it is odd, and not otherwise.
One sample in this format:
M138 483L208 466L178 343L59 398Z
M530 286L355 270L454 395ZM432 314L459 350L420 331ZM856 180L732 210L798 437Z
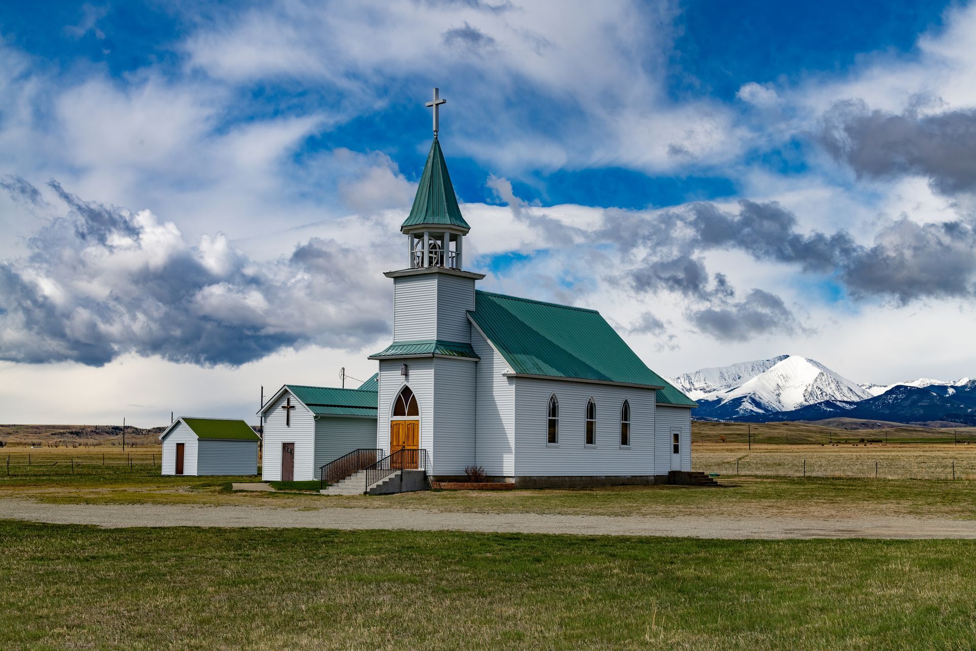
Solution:
M703 455L704 457L704 455ZM724 459L692 455L692 468L719 476L848 477L876 479L976 479L976 459L943 456L843 457L763 453Z

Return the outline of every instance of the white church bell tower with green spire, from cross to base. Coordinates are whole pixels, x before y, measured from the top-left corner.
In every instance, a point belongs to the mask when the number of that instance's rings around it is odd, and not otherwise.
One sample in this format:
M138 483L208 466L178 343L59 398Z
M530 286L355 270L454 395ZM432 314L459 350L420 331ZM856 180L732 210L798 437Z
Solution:
M464 238L470 226L437 138L438 109L446 101L433 89L433 142L410 215L400 225L406 235L403 267L386 271L393 280L393 342L370 355L380 362L377 447L390 450L402 437L392 409L409 387L419 412L420 436L433 476L458 476L474 463L474 369L468 311L474 283L484 274L464 270Z

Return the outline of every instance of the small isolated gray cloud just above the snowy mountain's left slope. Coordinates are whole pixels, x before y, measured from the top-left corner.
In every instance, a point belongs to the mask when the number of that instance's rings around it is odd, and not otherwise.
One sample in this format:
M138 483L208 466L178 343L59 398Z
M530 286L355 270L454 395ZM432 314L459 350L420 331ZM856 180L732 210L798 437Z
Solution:
M696 328L720 342L746 342L762 335L805 331L783 299L761 289L753 289L743 301L689 309L687 317Z

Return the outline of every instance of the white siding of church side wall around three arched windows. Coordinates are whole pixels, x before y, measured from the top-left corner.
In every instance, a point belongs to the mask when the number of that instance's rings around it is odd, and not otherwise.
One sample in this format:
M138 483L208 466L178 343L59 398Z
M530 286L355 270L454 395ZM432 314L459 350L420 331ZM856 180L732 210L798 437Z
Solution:
M559 400L559 443L547 444L549 396ZM585 444L586 407L596 402L596 444ZM620 408L630 401L630 447L620 445ZM557 380L515 379L517 476L655 474L655 391Z

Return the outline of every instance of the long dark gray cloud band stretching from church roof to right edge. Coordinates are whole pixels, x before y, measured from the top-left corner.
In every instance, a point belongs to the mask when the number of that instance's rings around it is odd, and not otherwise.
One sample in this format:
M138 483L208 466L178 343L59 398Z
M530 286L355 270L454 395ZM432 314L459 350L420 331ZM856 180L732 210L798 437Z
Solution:
M926 298L968 300L976 292L976 226L967 219L915 224L902 218L880 228L865 246L844 230L800 233L796 216L775 201L740 201L738 213L701 202L651 217L608 211L596 234L624 253L646 251L627 272L642 292L667 290L700 300L731 296L702 259L728 249L834 278L855 299L904 305Z

